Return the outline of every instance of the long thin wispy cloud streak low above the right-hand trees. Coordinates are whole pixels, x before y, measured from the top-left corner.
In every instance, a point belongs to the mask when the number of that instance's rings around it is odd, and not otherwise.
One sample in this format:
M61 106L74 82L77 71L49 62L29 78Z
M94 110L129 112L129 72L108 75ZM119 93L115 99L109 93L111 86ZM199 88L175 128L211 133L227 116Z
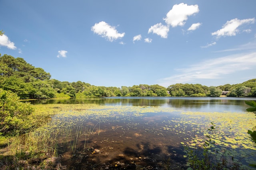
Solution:
M241 53L216 59L209 59L198 64L177 70L178 74L163 78L161 86L170 86L176 83L198 82L198 79L217 79L224 78L225 75L248 70L256 65L256 52Z

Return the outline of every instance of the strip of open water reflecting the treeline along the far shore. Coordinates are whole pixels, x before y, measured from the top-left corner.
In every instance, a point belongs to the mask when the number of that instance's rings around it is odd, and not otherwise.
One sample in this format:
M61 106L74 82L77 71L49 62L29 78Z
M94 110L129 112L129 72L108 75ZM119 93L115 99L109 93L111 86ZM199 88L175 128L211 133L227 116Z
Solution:
M32 104L100 104L111 106L161 106L189 111L245 111L245 100L256 98L212 97L110 97L88 99L31 100Z

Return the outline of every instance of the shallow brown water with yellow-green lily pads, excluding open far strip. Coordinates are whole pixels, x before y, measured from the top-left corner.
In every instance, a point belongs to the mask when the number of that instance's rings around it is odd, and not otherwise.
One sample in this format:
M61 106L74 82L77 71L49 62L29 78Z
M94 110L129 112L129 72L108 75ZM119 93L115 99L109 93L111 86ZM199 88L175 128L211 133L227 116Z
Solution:
M217 127L213 153L241 161L246 169L256 161L256 147L246 133L256 120L247 112L98 104L36 107L54 113L41 128L58 134L55 151L68 169L186 168L184 146L200 150L211 122Z

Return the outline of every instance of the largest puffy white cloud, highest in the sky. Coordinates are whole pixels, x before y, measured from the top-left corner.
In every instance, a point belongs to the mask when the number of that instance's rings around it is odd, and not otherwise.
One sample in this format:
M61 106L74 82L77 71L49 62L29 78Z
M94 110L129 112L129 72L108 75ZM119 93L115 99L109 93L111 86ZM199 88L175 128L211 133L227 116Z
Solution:
M165 22L172 27L183 26L188 20L188 16L199 12L198 5L188 5L184 3L175 4L166 14Z

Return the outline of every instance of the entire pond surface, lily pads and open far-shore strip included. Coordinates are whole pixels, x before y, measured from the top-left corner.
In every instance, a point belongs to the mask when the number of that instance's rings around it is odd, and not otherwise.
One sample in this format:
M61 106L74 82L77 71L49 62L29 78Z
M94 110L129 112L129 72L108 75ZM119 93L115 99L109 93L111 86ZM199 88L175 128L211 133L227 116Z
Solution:
M211 122L216 125L212 152L250 169L256 147L246 132L256 119L246 112L245 100L256 98L110 97L31 103L68 106L52 117L52 127L73 133L67 137L64 132L58 139L63 164L70 169L161 169L166 160L185 167L184 146L201 154L205 136L212 135L207 130ZM218 161L221 156L214 158Z

